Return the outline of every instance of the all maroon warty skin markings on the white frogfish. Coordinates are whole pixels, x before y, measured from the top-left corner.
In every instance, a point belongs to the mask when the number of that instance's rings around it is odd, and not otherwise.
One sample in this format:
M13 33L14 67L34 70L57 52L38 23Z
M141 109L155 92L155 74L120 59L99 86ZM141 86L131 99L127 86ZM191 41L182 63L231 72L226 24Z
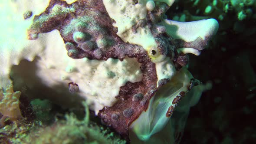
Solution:
M133 3L136 5L136 3ZM125 56L136 58L141 63L143 79L141 82L127 82L120 87L117 101L112 107L105 107L99 111L98 116L105 124L128 139L128 127L135 121L142 111L146 111L150 99L157 90L170 79L159 79L156 63L152 61L154 55L163 55L171 59L178 71L187 65L188 56L177 48L189 45L196 51L200 51L207 44L207 39L195 39L193 42L173 39L167 33L165 26L160 23L164 13L168 9L166 3L158 3L154 10L148 11L145 19L139 20L132 26L132 32L137 33L138 28L148 27L157 44L156 49L145 50L142 46L125 43L116 33L117 27L113 26L115 20L109 15L101 0L78 0L67 4L65 1L51 0L46 10L34 17L33 24L28 30L29 39L37 39L39 33L47 33L58 29L66 43L67 54L73 59L98 59L108 58L125 59ZM167 24L163 24L167 25ZM197 42L197 41L200 41ZM194 46L197 44L197 46ZM199 44L199 45L198 45ZM192 46L193 45L193 46ZM153 56L153 58L152 58ZM187 85L190 90L194 85L191 80ZM73 85L72 85L73 86ZM76 88L78 89L78 88ZM72 91L73 92L73 91ZM185 92L177 95L173 104L177 105ZM174 106L166 111L166 116L171 117Z

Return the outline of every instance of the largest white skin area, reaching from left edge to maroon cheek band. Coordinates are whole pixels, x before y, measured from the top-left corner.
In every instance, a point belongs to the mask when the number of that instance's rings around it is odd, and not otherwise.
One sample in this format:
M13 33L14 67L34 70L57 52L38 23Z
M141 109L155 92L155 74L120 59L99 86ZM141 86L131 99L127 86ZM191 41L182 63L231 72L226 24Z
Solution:
M97 114L104 106L110 107L115 103L119 88L126 82L142 80L140 64L135 58L125 58L122 62L111 58L107 61L70 58L58 30L40 34L36 40L28 40L26 30L33 16L42 13L49 0L22 2L0 3L0 16L5 21L0 27L4 32L0 33L0 87L5 88L12 83L9 78L12 65L19 65L23 59L33 61L35 56L39 56L36 75L40 82L60 93L68 89L69 82L78 84L79 95L92 102L91 108ZM27 10L31 10L33 16L24 20L23 13ZM27 77L19 79L23 79L31 89L38 82Z

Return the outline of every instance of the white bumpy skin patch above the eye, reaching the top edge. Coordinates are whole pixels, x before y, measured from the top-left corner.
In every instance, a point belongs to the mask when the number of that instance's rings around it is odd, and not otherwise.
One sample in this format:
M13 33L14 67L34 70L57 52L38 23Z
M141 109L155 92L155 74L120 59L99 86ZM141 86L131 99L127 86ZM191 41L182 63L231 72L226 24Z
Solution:
M118 27L117 35L125 43L137 44L148 51L151 47L157 47L148 26L139 27L137 33L133 33L131 29L139 20L146 18L147 1L139 0L136 5L133 5L131 0L103 0L103 3L109 16L116 22L114 26Z

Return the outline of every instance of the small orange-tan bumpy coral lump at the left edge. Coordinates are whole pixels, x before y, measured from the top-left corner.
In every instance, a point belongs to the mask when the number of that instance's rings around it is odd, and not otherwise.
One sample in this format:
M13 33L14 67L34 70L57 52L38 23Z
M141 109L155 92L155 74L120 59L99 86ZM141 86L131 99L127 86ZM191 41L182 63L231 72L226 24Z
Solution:
M0 126L5 125L6 118L10 118L11 121L23 118L20 112L20 94L20 91L13 92L13 85L8 85L5 92L0 89L0 113L3 115Z

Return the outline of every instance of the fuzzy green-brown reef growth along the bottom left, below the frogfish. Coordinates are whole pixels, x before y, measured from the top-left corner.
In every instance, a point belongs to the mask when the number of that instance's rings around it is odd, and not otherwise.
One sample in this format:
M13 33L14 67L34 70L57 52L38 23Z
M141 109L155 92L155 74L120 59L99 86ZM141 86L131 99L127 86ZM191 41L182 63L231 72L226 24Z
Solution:
M42 104L47 103L41 101ZM38 105L39 104L39 105ZM33 105L42 105L36 100ZM46 104L47 105L47 104ZM56 119L53 124L43 124L41 121L18 121L0 129L1 144L125 144L126 141L108 128L98 126L89 121L89 109L86 104L86 115L82 120L75 114L66 114L64 119ZM34 109L44 113L43 109ZM44 115L41 120L46 121ZM40 116L41 117L41 116Z

